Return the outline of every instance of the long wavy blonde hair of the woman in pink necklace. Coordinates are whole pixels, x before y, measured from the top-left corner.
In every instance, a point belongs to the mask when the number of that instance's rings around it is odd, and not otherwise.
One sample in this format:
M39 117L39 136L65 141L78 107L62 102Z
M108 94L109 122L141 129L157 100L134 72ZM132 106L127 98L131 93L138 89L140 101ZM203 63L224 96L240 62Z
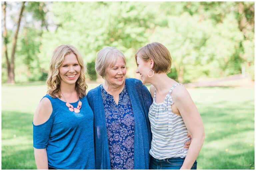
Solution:
M59 74L59 67L63 63L64 57L70 53L74 53L76 55L77 61L81 66L80 76L77 79L76 85L75 85L79 98L82 98L85 96L86 89L88 88L85 82L85 73L87 71L87 68L84 65L80 52L70 44L60 45L52 53L52 58L49 65L50 67L49 73L46 80L46 85L48 88L47 93L54 98L57 98L57 97L61 98L61 93L60 93L61 78Z

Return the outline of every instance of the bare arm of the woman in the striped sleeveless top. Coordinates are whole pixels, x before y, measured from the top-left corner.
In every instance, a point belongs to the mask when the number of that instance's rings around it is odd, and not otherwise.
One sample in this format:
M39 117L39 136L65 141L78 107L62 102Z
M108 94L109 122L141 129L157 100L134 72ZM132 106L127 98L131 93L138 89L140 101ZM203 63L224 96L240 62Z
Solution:
M177 92L172 96L175 106L193 137L181 169L191 169L204 142L203 121L188 91L182 86L177 86L174 90Z

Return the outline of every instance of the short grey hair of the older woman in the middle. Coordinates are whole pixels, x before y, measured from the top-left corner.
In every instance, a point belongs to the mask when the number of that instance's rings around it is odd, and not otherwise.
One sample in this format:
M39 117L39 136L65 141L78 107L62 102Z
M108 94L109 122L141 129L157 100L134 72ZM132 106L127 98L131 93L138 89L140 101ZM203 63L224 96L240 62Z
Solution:
M126 59L124 54L118 50L116 47L107 46L101 49L95 61L95 71L104 78L106 74L107 67L112 67L116 64L117 57L120 56L123 58L126 65Z

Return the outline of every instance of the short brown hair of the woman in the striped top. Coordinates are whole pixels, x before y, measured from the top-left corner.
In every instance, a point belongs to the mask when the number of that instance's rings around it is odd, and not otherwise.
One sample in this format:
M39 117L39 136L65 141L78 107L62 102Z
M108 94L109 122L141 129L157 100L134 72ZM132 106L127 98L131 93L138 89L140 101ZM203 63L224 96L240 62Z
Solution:
M149 59L154 61L154 66L152 69L155 73L170 72L172 66L172 58L169 50L163 44L153 42L140 48L135 54L136 63L139 53L140 57L144 61L148 61Z

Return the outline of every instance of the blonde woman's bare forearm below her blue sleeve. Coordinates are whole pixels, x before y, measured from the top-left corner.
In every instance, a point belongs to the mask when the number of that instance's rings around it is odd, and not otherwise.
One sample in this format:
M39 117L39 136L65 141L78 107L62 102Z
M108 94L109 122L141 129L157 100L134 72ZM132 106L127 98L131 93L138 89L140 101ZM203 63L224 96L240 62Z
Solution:
M46 148L37 149L34 148L36 167L37 169L48 169L48 158Z

